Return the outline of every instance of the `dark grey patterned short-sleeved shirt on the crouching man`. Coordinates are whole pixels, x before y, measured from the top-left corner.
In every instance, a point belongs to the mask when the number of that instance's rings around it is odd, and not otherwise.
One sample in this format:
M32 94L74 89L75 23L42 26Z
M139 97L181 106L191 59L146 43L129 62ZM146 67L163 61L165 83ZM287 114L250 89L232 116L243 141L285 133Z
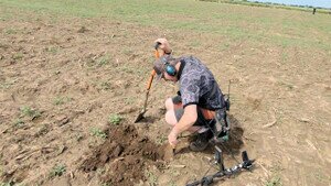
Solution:
M180 58L178 78L183 107L197 105L216 110L225 107L223 94L210 69L194 56Z

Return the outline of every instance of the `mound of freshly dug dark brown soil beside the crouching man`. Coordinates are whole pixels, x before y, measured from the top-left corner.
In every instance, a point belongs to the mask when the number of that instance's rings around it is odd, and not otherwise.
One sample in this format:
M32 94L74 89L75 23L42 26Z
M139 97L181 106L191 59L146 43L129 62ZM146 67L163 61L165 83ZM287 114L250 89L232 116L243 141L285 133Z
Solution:
M146 180L145 169L150 165L162 166L164 146L140 136L135 127L115 125L108 130L108 139L83 161L81 169L104 169L102 182L129 186Z

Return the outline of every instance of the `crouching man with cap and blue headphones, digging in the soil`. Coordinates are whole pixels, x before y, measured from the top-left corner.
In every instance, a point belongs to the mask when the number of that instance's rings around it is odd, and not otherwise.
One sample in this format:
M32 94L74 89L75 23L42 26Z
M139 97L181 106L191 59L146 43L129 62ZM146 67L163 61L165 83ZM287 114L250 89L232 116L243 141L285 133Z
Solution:
M166 39L158 39L161 51L171 52ZM164 47L166 46L166 47ZM159 50L159 48L158 48ZM194 56L174 58L170 54L160 55L153 64L156 79L179 83L180 90L166 100L166 122L172 127L168 135L174 149L179 135L189 131L197 133L190 143L191 151L204 151L213 139L215 114L225 112L226 102L211 70Z

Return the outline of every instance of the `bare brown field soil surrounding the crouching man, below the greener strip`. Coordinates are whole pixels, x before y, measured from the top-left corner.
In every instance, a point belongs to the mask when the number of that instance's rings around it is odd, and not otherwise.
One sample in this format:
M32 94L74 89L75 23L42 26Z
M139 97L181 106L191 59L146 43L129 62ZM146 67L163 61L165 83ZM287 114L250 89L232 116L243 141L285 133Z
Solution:
M153 84L147 118L134 123L153 62L152 42L166 36L175 56L200 57L224 92L232 81L225 165L236 164L231 154L239 158L244 150L256 163L252 173L215 185L331 185L328 53L245 40L221 50L214 43L228 42L226 35L19 15L24 19L0 22L3 183L180 186L215 173L213 167L206 173L213 147L190 152L188 139L181 139L174 160L163 160L169 132L163 101L177 92L175 85ZM124 118L119 125L108 122L115 113ZM52 176L56 165L65 166L63 175Z

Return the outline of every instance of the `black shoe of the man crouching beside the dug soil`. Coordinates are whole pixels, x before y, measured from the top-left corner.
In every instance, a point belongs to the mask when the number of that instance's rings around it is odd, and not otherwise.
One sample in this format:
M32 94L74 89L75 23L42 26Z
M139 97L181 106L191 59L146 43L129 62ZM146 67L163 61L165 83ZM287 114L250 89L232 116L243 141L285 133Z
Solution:
M209 142L212 138L213 132L211 130L199 133L195 141L190 143L190 150L194 152L204 151L209 146Z

